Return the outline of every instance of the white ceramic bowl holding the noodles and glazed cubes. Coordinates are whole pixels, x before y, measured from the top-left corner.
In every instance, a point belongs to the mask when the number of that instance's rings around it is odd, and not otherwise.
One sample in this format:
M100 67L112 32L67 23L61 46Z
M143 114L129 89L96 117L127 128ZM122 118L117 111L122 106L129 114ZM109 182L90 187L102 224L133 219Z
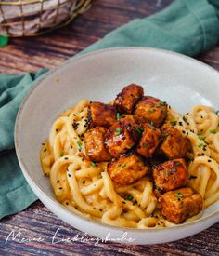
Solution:
M59 82L58 82L59 79ZM41 143L55 118L81 99L110 101L132 82L145 93L167 101L177 111L195 104L219 109L219 73L186 56L145 47L121 47L71 59L51 71L23 101L16 121L15 144L19 165L33 192L61 220L100 238L120 238L124 232L135 239L122 243L154 244L192 236L219 221L219 202L204 210L200 220L171 228L137 230L90 221L62 207L39 161Z

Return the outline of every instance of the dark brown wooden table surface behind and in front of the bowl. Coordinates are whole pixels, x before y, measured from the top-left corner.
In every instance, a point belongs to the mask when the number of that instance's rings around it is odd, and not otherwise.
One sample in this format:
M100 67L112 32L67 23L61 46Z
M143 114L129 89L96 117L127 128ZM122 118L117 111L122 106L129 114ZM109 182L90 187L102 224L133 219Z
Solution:
M116 27L135 18L146 17L166 7L172 0L96 0L93 7L67 27L35 38L11 39L0 49L0 74L20 74L39 68L53 68L88 47ZM219 46L197 57L219 70ZM59 230L58 230L59 228ZM1 221L0 255L219 255L219 223L196 236L152 246L122 246L82 241L68 246L53 245L52 236L80 237L84 233L60 221L38 200L28 209ZM19 243L6 237L15 231L21 238L39 239ZM19 233L20 232L20 233Z

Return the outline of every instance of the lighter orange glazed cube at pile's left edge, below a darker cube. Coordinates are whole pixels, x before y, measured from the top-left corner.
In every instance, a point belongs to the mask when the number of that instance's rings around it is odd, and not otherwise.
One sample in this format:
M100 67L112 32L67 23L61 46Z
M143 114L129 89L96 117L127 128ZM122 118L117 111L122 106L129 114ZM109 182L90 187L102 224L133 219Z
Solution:
M111 159L111 155L104 145L106 133L107 129L101 127L92 128L85 133L85 152L91 161L102 162Z

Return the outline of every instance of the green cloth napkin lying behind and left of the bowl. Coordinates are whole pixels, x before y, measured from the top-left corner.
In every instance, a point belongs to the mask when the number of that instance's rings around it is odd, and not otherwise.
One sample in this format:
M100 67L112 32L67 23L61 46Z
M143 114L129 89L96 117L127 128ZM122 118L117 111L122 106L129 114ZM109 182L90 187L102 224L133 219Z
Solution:
M217 44L218 11L218 0L175 0L161 12L107 34L82 53L107 47L159 47L194 56ZM19 168L13 132L19 104L45 72L0 75L0 218L36 200Z

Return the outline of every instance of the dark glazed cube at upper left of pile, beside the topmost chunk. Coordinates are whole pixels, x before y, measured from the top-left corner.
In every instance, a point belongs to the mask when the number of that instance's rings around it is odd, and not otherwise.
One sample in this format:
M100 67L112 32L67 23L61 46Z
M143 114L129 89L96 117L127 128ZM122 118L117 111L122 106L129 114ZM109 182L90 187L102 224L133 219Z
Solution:
M110 104L92 102L88 107L89 128L110 128L116 121L116 108Z

